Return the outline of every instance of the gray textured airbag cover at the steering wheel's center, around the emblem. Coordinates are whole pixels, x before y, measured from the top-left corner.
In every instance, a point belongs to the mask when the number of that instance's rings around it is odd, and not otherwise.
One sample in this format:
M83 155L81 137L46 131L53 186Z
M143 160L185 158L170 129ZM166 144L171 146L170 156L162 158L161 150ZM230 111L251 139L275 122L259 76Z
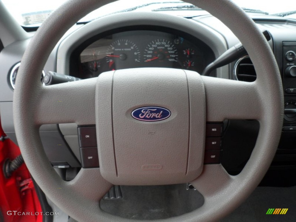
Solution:
M131 115L149 106L166 107L171 114L155 122ZM101 74L96 128L102 176L121 185L178 184L197 178L203 166L205 110L198 73L149 68Z

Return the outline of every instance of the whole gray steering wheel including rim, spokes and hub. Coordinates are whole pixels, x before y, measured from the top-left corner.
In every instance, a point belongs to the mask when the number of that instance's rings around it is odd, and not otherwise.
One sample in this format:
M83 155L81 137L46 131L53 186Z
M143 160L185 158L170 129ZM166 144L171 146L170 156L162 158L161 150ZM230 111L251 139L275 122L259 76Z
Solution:
M31 175L60 209L78 221L129 221L99 208L99 200L111 188L111 183L156 185L186 181L192 181L191 184L204 196L204 205L191 213L160 221L216 221L222 218L259 184L274 157L281 135L283 90L268 43L255 23L233 2L191 0L188 2L220 19L239 38L254 64L255 82L211 78L185 70L139 68L42 86L39 73L66 30L94 8L110 2L66 2L44 21L25 51L14 91L13 115L17 140ZM141 89L145 89L146 94ZM145 104L168 108L171 116L155 123L133 119L131 112ZM260 122L255 148L237 176L230 176L221 164L203 165L205 123L225 119L256 119ZM100 168L82 168L72 181L63 181L49 163L39 136L42 124L53 123L96 123ZM147 152L139 153L136 148L140 149L144 139L128 134L131 129L128 126L136 126L139 133L157 126L165 139L158 151L150 147ZM172 152L168 152L166 143L171 144L168 134L172 132L171 128L179 127L184 132L187 130L185 135L189 139L186 144L180 144L171 138L178 146L173 145ZM125 145L120 147L120 143ZM131 150L127 150L126 144L131 145ZM143 166L143 158L151 160L149 155L152 152L157 152L155 158L163 158L160 160L161 170L145 171L134 167L137 164ZM182 162L184 158L180 158L181 161L176 156L184 153L188 155L185 158L187 163ZM176 167L168 169L170 167L166 166L172 166L172 160L176 160ZM129 161L133 167L124 165Z

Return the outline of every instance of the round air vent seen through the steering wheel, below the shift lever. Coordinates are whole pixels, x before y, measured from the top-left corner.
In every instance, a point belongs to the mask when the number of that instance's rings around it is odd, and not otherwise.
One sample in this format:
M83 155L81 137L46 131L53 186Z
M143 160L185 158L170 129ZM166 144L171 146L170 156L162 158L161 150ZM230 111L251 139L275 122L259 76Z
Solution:
M234 79L244 82L254 82L256 77L254 65L249 56L244 56L237 60L234 65Z

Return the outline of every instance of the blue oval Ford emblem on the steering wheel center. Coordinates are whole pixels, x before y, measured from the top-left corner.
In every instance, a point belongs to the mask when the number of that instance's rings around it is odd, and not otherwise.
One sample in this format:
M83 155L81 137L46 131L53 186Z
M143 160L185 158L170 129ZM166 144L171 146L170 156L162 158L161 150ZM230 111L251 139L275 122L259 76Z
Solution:
M147 106L133 110L131 116L136 120L153 122L165 120L170 117L170 110L163 107Z

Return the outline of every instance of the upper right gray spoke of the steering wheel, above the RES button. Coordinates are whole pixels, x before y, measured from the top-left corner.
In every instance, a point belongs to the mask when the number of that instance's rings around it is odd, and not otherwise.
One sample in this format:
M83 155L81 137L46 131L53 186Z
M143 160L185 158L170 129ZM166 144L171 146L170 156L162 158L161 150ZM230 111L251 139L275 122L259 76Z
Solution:
M256 82L240 82L202 76L207 101L207 121L260 119L260 95Z

